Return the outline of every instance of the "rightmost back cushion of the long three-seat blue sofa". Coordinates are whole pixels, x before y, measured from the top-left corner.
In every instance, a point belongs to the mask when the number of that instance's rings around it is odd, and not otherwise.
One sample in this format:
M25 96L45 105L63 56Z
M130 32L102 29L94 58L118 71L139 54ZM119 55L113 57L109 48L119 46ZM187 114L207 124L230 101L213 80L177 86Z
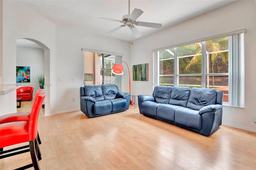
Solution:
M186 107L199 111L202 107L215 103L216 89L192 87Z

